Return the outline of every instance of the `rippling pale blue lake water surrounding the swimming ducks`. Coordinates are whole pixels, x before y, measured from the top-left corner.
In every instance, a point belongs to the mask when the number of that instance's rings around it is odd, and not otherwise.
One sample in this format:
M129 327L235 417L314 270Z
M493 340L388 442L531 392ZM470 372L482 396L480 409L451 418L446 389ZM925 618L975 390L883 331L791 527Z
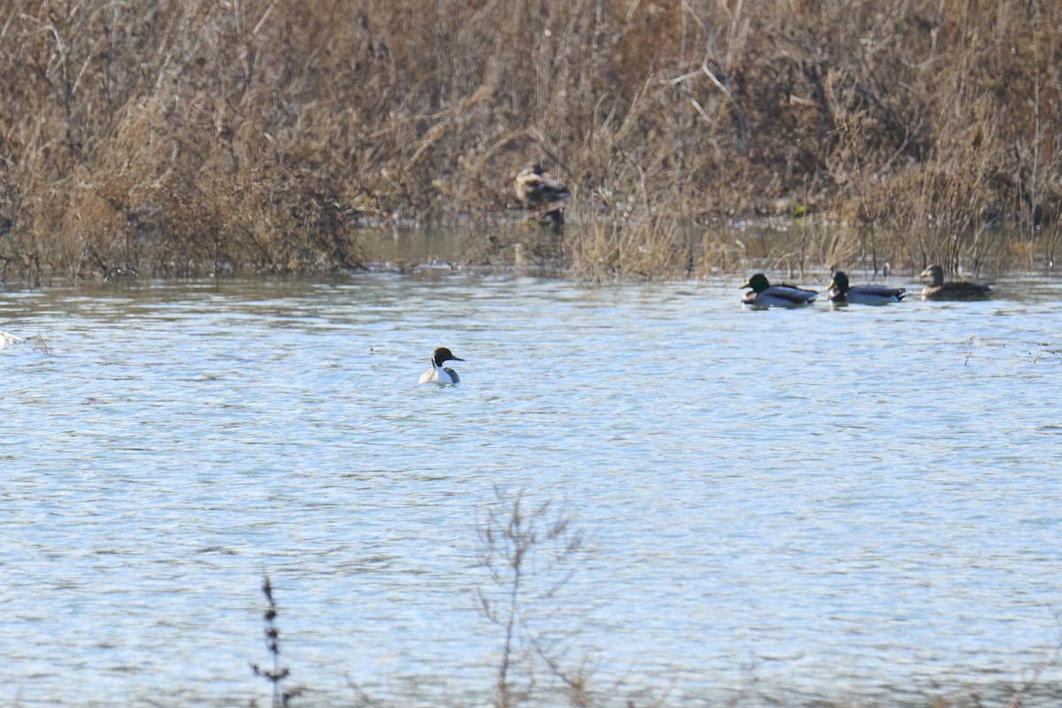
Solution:
M50 353L0 350L0 705L269 705L263 573L295 705L490 705L477 529L519 493L585 534L524 609L600 705L1005 705L1060 643L1062 279L794 311L740 282L4 293ZM440 345L462 383L418 386Z

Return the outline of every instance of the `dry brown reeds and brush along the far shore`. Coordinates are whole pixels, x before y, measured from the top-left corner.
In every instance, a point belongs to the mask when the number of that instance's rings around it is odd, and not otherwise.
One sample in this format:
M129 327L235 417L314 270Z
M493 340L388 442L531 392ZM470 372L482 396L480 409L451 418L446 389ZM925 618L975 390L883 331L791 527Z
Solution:
M577 277L727 270L741 224L800 267L1052 263L1059 27L1060 0L6 3L0 278L360 267L380 227L511 259L551 238L494 235L534 162Z

